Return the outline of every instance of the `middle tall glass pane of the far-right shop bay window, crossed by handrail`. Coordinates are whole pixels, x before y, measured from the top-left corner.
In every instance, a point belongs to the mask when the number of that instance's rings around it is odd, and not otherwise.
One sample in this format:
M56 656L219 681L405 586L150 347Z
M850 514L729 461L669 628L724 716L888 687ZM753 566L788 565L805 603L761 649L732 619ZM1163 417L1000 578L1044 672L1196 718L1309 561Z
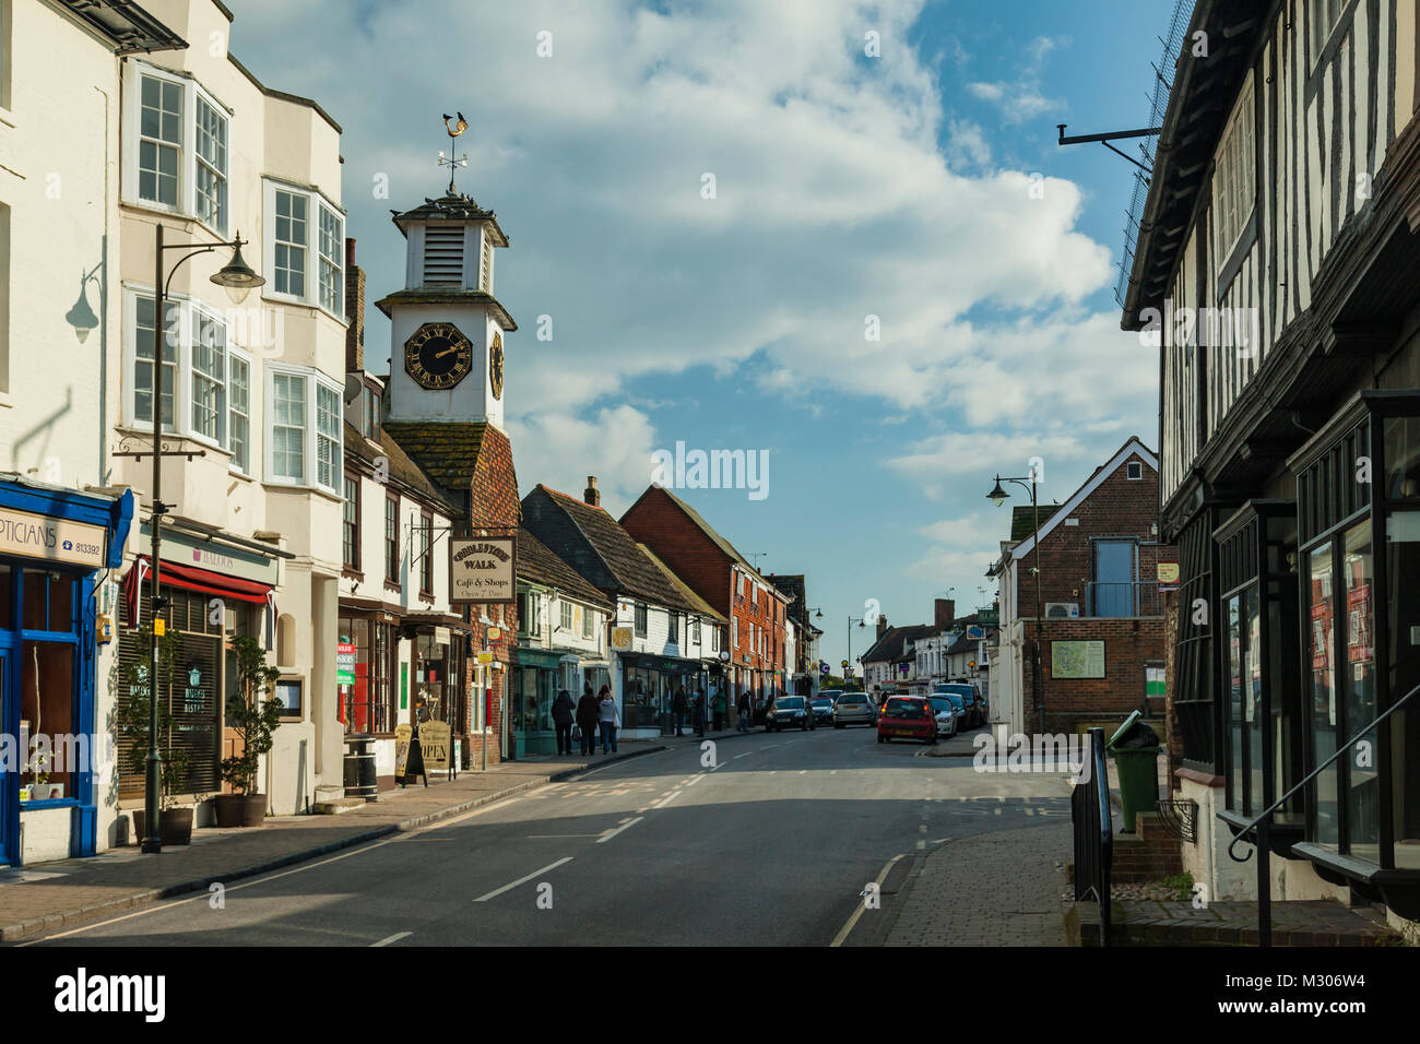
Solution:
M1376 720L1376 648L1372 628L1373 561L1370 523L1346 531L1342 570L1346 580L1346 729L1350 739ZM1376 773L1376 730L1350 749L1346 834L1350 854L1380 862L1380 780Z

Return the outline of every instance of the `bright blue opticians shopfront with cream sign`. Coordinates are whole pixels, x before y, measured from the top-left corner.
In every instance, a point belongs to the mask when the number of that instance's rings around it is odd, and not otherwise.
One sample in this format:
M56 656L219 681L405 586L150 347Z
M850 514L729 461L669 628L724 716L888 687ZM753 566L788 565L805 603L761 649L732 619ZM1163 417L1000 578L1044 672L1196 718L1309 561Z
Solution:
M129 491L0 480L0 864L95 851L108 749L95 589L132 516Z

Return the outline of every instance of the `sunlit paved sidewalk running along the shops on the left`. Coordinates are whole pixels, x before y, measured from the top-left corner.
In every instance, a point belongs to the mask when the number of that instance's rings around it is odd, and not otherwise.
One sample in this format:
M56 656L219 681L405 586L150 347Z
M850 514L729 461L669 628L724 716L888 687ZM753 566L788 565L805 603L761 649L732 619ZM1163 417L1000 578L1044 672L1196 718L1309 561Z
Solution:
M666 750L665 743L622 741L609 757L542 756L506 761L487 771L464 771L453 781L430 781L383 791L379 801L339 815L271 817L264 827L193 831L190 845L142 855L136 845L111 848L88 859L0 869L0 942L13 942L65 925L94 920L213 882L231 882L304 862L457 815L532 787L612 761Z

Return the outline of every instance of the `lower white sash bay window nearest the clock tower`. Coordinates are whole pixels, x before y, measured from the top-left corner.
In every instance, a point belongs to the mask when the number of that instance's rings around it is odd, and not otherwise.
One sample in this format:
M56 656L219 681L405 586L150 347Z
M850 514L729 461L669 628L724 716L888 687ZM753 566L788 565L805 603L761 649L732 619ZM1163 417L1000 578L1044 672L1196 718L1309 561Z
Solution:
M341 392L302 366L267 364L267 482L339 493Z

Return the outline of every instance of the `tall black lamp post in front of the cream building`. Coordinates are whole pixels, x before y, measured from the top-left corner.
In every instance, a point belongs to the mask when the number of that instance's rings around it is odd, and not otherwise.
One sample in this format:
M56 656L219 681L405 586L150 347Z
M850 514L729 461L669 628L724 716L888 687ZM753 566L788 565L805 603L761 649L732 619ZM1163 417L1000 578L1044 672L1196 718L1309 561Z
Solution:
M168 510L169 504L162 501L162 482L163 482L163 341L166 339L166 315L165 304L168 298L168 286L172 277L178 274L178 270L185 261L196 257L197 254L209 254L220 247L231 247L231 260L227 261L213 277L212 281L227 291L227 297L233 304L241 304L247 300L247 294L251 293L253 287L260 287L266 283L264 278L257 276L251 266L248 266L241 259L241 246L246 240L241 239L241 233L230 241L222 243L165 243L163 241L163 223L159 222L155 226L155 240L153 240L153 507L151 526L153 530L153 545L152 545L152 572L149 574L149 601L153 614L152 629L148 634L148 761L146 774L143 785L143 832L148 835L142 839L142 851L149 854L156 854L163 851L162 835L159 832L158 817L160 814L159 794L162 791L162 754L158 750L158 629L159 629L159 611L163 608L165 602L158 594L158 584L160 581L162 560L159 558L159 551L162 550L162 521L163 513ZM163 251L166 250L187 250L173 264L172 271L163 276ZM173 398L173 405L176 408L176 396ZM176 415L173 420L176 422Z

